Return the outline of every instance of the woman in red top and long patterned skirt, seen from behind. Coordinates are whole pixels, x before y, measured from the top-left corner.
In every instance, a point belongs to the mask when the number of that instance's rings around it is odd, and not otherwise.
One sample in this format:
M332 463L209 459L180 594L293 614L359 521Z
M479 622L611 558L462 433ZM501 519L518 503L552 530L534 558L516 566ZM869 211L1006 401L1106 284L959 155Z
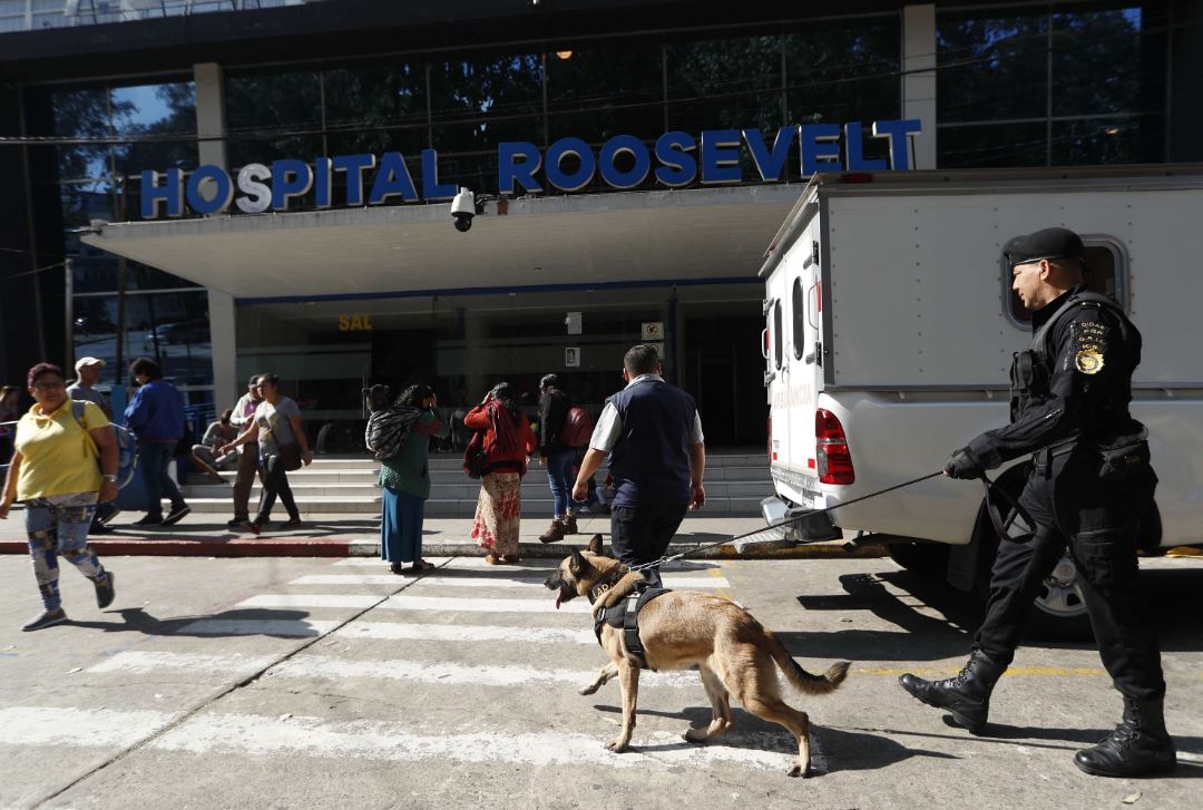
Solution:
M538 447L531 422L518 410L514 389L498 383L485 401L468 412L463 424L484 433L480 498L472 538L485 549L485 562L518 561L522 519L522 475L527 455Z

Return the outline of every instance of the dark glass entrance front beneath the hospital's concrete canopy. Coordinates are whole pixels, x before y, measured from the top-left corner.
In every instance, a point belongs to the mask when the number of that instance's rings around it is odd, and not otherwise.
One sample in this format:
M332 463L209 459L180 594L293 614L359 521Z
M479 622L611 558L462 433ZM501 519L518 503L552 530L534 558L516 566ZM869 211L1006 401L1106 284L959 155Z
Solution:
M360 391L415 382L435 389L450 416L498 382L518 391L533 416L539 379L555 372L574 401L600 413L622 388L622 357L642 325L663 326L665 374L707 414L707 442L757 444L765 418L758 282L571 292L413 296L237 308L237 376L272 372L304 409L324 449L362 449ZM565 314L580 313L569 335Z

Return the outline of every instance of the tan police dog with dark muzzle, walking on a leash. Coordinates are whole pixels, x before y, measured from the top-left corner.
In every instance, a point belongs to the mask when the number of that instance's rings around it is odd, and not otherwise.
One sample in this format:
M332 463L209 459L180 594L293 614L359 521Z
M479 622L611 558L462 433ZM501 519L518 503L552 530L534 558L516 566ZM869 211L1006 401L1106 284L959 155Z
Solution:
M559 563L544 585L558 591L556 607L577 596L588 596L612 581L597 597L593 613L626 598L642 581L639 573L622 574L624 566L602 554L602 536L595 534L585 552L573 554ZM621 575L621 577L620 577ZM812 675L802 669L789 651L743 608L695 591L672 591L648 602L639 613L639 637L648 668L688 669L698 667L703 686L713 708L706 728L691 728L685 739L701 743L717 737L734 725L729 694L757 717L784 726L798 740L798 762L790 776L808 776L811 762L810 720L781 699L777 673L781 669L790 685L805 694L835 691L848 675L848 662L831 664L826 674ZM635 728L635 699L639 696L639 661L627 652L622 631L603 625L602 646L610 663L602 667L595 681L581 690L593 694L614 678L622 686L622 731L606 743L615 752L627 750Z

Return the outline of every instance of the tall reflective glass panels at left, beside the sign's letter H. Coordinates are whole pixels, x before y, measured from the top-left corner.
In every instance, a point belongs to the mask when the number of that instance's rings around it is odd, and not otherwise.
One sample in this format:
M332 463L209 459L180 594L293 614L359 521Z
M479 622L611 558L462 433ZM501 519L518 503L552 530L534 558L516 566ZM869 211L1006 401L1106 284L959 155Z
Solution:
M189 402L203 409L213 400L207 291L162 270L126 261L122 306L119 260L83 244L78 236L78 229L94 219L135 218L130 212L138 206L137 183L120 178L137 177L152 166L196 166L194 83L49 88L37 102L55 136L112 138L103 144L38 149L43 159L53 149L54 175L38 178L34 193L51 201L43 209L55 214L45 218L43 232L57 233L58 250L72 262L75 356L108 363L102 390L124 379L118 359L125 366L138 356L154 357Z

